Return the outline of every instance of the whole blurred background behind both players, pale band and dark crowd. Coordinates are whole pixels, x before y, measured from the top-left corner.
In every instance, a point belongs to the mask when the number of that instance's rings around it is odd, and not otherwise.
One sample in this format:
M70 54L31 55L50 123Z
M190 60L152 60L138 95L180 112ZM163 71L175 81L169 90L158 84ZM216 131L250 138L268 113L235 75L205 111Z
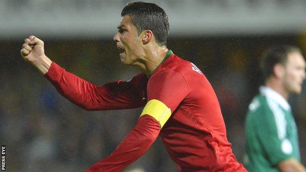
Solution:
M0 0L0 144L8 172L83 172L108 156L142 109L88 112L61 97L20 55L24 39L45 42L54 62L97 85L139 74L123 66L112 38L129 0ZM169 16L168 48L196 64L220 101L239 162L244 119L262 78L258 60L274 44L306 54L305 0L148 0ZM292 96L306 165L306 85ZM201 88L199 88L201 89ZM125 172L176 172L158 138Z

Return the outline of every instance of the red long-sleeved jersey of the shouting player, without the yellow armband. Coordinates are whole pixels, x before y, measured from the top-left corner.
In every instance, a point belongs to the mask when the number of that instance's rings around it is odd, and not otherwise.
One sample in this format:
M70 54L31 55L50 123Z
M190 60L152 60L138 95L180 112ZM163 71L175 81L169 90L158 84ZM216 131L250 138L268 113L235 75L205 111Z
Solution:
M96 86L52 62L45 75L59 93L86 110L129 109L156 99L171 109L162 126L150 114L110 156L86 172L118 172L137 160L157 136L180 172L247 172L237 162L226 137L220 105L204 74L170 50L149 78L138 74L130 81Z

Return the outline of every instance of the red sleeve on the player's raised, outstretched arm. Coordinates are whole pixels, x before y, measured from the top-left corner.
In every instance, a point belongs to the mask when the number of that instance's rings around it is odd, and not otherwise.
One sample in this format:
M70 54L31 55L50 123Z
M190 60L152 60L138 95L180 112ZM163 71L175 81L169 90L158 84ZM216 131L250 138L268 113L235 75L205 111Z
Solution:
M59 94L85 110L131 109L144 106L132 81L120 80L101 87L66 72L54 62L45 77Z

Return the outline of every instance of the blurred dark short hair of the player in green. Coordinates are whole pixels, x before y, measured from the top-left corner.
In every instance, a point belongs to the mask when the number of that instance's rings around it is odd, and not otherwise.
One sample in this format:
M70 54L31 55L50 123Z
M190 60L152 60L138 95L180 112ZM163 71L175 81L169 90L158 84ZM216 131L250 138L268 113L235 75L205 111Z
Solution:
M273 75L273 68L276 64L280 63L285 65L287 56L291 52L300 52L301 50L295 46L290 45L277 45L268 49L260 61L260 69L263 74L263 79L268 79Z

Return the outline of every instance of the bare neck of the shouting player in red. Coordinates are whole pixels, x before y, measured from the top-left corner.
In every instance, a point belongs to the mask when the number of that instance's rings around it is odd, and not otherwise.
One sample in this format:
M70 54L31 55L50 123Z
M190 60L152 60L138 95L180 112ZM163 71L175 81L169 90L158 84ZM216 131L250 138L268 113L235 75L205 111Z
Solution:
M166 47L157 47L155 49L144 49L142 58L139 60L135 66L149 76L158 65L163 61L164 57L167 55L169 49Z

